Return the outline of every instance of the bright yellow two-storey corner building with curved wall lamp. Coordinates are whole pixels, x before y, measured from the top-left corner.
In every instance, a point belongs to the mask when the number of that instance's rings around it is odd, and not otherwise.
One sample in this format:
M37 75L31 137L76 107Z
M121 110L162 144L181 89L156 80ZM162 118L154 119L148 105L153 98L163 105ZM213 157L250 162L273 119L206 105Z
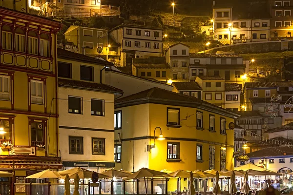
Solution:
M115 113L115 147L121 149L115 153L121 156L116 169L194 171L234 167L234 131L229 124L238 115L230 111L155 87L117 99ZM166 139L155 140L160 134Z

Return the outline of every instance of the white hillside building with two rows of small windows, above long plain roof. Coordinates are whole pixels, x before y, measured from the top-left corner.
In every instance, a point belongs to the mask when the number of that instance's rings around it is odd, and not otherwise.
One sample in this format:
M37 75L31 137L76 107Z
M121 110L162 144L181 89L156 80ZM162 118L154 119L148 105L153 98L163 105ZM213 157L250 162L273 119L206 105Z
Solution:
M146 26L121 25L109 31L120 44L119 66L131 65L133 58L162 57L162 29Z

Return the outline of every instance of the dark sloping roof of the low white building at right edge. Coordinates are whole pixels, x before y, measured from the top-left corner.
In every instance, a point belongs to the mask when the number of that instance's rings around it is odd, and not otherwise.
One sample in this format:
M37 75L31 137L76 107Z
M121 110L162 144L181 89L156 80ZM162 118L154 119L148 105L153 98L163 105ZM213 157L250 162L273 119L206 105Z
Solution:
M289 156L293 155L293 146L267 147L256 152L246 154L248 157Z

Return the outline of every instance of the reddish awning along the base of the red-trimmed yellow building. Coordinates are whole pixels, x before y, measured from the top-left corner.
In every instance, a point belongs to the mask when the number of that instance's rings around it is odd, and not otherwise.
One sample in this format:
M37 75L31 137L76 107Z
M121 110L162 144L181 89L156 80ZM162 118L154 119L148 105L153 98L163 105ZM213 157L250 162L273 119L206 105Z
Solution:
M62 162L56 161L14 161L15 169L62 169ZM12 160L0 160L0 169L13 169Z

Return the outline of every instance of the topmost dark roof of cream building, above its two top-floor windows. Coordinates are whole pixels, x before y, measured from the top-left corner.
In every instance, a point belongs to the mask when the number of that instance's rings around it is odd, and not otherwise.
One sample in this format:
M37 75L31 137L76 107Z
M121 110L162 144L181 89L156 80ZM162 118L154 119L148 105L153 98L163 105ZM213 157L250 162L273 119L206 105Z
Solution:
M112 66L113 64L111 62L101 60L101 59L95 59L89 56L85 56L82 54L70 52L64 49L57 48L58 58L60 59L68 59L68 60L74 60L74 61L81 61L81 62L87 62L87 63L93 63L101 66Z

